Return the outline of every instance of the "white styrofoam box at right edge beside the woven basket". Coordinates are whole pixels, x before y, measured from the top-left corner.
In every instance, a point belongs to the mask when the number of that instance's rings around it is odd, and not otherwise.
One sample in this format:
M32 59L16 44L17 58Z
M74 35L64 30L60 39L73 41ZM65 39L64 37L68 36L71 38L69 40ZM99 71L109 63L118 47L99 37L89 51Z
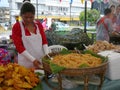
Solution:
M98 54L108 56L108 68L105 76L110 80L120 79L120 53L114 51L102 51Z

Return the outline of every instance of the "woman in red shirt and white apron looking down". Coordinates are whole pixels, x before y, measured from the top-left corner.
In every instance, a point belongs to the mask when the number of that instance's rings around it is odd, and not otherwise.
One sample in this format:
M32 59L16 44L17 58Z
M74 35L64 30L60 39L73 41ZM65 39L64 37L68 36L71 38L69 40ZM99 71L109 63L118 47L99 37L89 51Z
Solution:
M41 58L48 53L43 26L35 21L35 7L25 2L20 10L22 21L12 28L12 39L18 51L18 64L27 68L40 68Z

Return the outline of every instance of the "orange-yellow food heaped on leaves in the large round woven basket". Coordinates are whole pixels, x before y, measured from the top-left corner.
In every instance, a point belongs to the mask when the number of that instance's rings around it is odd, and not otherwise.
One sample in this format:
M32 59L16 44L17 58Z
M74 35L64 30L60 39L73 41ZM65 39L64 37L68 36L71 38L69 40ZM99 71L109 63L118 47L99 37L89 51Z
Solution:
M101 65L101 58L91 54L70 53L54 56L52 63L65 68L96 67Z

